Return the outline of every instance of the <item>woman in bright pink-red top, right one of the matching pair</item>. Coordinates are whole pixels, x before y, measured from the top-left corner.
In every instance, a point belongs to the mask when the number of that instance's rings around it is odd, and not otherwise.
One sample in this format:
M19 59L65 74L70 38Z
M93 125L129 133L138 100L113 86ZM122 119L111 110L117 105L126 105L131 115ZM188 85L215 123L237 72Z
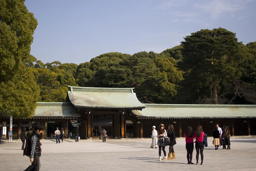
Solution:
M203 131L203 128L201 125L198 125L193 138L195 138L195 150L196 150L196 164L198 164L198 158L199 158L199 150L200 150L200 155L201 155L201 165L203 165L203 160L204 160L204 139L205 133Z

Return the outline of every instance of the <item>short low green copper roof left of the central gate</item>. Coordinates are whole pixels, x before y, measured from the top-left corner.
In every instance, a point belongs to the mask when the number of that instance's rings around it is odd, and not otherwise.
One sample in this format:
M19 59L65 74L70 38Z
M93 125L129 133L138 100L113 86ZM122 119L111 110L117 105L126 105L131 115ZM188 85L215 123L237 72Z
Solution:
M80 117L72 103L37 102L34 117Z

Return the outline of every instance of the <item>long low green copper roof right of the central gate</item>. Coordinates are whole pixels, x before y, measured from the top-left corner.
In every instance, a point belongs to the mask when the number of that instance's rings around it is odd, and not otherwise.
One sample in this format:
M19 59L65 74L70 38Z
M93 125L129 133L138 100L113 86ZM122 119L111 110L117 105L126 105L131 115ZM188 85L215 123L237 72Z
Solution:
M256 118L256 105L167 105L145 104L141 118Z

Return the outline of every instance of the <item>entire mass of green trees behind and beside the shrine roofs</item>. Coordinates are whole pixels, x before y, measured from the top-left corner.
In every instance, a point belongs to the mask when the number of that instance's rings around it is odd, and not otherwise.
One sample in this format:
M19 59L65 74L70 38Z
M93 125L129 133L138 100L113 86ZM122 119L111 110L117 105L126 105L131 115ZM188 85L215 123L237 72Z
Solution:
M0 0L0 116L32 117L36 102L64 102L67 86L135 87L155 103L256 104L256 42L202 29L161 53L111 52L79 65L30 55L37 20L24 0Z

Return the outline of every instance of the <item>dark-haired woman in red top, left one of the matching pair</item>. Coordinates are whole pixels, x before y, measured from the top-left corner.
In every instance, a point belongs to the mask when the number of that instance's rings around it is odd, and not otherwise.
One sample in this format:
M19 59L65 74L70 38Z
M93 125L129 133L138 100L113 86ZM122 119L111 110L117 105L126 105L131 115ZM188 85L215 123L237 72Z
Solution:
M194 150L194 141L193 141L193 135L194 131L191 126L187 127L186 132L184 133L184 137L186 137L186 149L187 149L187 159L188 164L194 164L192 163L192 154Z

